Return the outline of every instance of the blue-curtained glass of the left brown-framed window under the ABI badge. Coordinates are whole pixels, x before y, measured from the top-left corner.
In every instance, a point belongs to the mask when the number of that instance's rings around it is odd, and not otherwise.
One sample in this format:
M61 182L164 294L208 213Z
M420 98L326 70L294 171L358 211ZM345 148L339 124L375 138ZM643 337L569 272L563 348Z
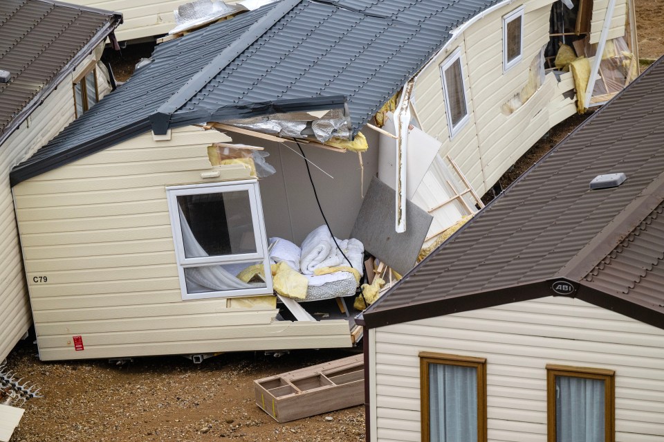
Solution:
M477 369L429 364L430 442L477 442Z

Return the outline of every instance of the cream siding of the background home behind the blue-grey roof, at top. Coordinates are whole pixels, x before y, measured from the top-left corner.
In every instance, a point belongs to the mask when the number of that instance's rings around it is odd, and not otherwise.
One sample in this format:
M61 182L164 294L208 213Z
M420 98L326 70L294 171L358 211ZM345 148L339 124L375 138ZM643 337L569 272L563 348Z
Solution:
M238 0L225 0L237 3ZM116 29L119 41L167 34L175 28L174 10L190 0L69 0L68 3L122 12L124 22Z

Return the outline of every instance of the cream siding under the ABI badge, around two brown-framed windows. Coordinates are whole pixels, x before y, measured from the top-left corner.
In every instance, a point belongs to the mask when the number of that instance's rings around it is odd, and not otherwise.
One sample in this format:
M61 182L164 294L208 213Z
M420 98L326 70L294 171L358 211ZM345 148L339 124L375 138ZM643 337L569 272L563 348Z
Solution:
M664 438L664 330L569 297L371 333L371 441L421 442L420 351L486 358L488 440L546 442L546 364L616 371L616 442Z

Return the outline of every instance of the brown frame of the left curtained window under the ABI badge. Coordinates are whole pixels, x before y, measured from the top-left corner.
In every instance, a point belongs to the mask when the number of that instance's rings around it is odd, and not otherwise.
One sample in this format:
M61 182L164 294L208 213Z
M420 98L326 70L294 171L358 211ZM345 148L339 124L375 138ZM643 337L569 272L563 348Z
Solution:
M486 432L486 358L459 356L421 351L420 356L420 410L422 442L430 442L429 432L429 365L457 365L477 371L477 442L487 441Z

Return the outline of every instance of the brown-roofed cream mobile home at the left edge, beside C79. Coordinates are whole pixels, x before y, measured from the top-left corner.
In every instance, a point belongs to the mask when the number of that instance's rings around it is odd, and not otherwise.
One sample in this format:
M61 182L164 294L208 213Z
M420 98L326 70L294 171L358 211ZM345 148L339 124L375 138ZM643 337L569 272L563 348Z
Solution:
M121 22L56 1L0 3L0 362L32 323L10 170L111 91L100 57Z

